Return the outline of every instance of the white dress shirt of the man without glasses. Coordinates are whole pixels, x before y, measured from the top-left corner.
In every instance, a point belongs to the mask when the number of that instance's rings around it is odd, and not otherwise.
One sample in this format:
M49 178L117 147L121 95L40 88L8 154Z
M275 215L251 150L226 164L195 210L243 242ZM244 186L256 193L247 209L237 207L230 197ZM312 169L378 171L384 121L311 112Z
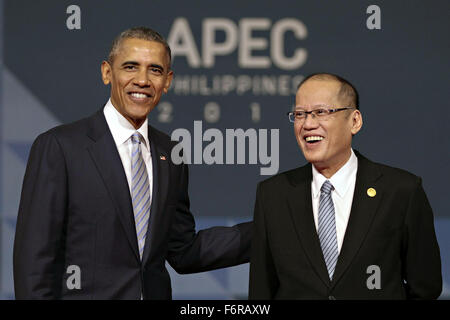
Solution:
M108 123L109 130L116 143L117 150L119 151L120 159L122 160L123 169L127 176L128 187L131 194L131 136L136 131L139 132L143 137L145 142L141 143L141 152L144 159L145 165L147 167L148 181L150 184L150 205L153 199L153 165L152 165L152 154L150 151L150 141L148 139L148 119L139 129L135 129L133 125L117 111L116 108L111 103L111 99L105 105L103 109L103 114L105 115L106 122Z

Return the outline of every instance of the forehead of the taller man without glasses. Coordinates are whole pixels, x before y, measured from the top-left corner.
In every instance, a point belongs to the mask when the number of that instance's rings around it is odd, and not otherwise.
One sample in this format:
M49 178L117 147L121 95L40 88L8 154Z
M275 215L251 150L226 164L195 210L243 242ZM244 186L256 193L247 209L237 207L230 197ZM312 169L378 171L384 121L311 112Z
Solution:
M160 42L128 38L120 43L114 61L124 62L128 60L139 63L159 63L167 66L168 55L166 48Z

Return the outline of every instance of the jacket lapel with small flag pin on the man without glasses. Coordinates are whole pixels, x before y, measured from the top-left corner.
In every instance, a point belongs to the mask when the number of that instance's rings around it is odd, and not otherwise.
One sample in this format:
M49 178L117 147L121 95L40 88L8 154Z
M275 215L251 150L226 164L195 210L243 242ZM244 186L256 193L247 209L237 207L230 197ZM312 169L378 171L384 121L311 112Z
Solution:
M164 148L155 130L149 126L148 129L150 150L152 153L152 166L153 166L153 192L152 192L152 204L150 208L149 225L147 229L147 236L145 240L144 253L142 256L143 264L147 261L151 252L152 244L155 239L158 238L158 232L164 232L164 228L161 228L160 219L163 217L164 212L161 211L165 207L165 200L167 199L167 192L169 187L169 150ZM159 228L158 228L159 226Z

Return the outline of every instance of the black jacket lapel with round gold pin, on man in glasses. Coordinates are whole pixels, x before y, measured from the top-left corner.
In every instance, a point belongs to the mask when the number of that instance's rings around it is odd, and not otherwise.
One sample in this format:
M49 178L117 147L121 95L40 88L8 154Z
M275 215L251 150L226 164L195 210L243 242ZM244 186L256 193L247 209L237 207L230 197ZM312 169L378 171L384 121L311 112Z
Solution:
M361 247L383 196L383 190L377 185L377 180L381 176L380 171L372 162L357 151L355 151L355 154L358 157L355 192L344 242L333 276L333 287L342 277ZM370 197L367 194L369 188L376 190L375 196Z

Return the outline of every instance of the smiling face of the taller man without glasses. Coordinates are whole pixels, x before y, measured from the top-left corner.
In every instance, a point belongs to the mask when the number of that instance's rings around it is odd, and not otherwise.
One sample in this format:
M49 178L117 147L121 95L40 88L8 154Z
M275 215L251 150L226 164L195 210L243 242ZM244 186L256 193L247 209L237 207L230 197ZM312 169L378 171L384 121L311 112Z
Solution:
M104 84L111 83L111 103L138 129L167 93L172 81L168 46L162 42L123 38L102 63Z

